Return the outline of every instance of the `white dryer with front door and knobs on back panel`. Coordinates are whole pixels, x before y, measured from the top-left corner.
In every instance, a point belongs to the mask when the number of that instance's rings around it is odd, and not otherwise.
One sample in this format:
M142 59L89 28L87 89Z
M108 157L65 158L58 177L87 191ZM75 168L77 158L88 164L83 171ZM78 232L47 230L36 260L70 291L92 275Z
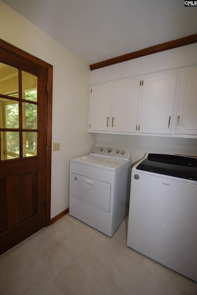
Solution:
M70 159L69 214L112 236L129 208L131 155L96 146Z

